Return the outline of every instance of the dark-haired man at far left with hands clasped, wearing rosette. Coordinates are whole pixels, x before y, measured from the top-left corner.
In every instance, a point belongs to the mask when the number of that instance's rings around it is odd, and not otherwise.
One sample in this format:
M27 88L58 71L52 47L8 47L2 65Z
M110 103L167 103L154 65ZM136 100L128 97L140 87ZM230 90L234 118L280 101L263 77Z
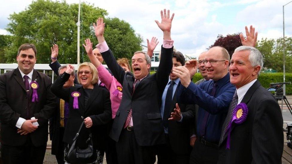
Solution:
M36 47L23 44L18 68L0 75L1 155L4 163L42 163L48 141L48 119L56 97L51 78L34 70Z

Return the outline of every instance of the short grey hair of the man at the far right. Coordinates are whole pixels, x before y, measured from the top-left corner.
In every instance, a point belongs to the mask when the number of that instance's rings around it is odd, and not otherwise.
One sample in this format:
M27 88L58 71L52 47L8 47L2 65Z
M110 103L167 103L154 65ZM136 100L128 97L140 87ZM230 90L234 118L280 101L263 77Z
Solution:
M239 51L250 51L249 60L250 60L251 65L253 67L256 65L259 65L259 66L261 66L261 68L263 68L263 63L264 63L263 56L261 55L261 52L258 49L254 48L254 47L240 46L234 50L234 52L239 52ZM261 68L258 71L258 75L261 72Z

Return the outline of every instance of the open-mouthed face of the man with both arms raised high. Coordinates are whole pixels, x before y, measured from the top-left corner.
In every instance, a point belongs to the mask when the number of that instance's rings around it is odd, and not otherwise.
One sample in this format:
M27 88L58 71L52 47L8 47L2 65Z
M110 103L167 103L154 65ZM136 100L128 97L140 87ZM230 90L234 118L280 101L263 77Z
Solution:
M132 57L132 70L135 79L142 79L147 76L150 69L150 64L147 64L145 55L143 53L136 53Z

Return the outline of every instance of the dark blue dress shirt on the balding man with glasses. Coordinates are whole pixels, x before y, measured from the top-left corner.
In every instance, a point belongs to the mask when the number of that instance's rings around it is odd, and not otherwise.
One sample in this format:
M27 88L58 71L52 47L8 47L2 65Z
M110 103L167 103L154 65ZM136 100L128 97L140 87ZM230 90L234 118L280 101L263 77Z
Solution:
M200 134L200 126L204 114L208 111L209 117L206 123L205 139L209 142L219 143L222 125L227 116L228 108L235 92L235 86L230 83L229 72L216 81L218 87L215 96L210 96L214 80L209 80L195 85L191 82L187 88L179 85L177 101L185 104L199 105L197 119L197 134Z

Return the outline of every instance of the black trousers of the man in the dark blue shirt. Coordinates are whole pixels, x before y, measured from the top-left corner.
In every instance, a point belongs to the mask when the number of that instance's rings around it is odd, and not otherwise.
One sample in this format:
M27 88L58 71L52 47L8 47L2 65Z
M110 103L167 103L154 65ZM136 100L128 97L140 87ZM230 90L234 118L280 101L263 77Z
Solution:
M196 140L191 151L190 164L217 164L219 148L206 146L199 140Z

